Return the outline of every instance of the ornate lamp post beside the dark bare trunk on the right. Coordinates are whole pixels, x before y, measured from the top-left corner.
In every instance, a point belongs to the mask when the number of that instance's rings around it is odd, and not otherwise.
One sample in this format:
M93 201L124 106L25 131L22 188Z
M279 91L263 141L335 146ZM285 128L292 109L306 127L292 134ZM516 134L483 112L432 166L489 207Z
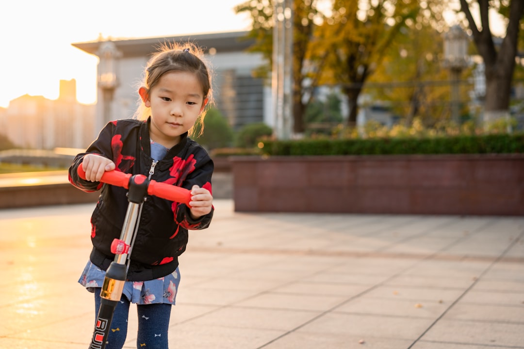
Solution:
M444 34L444 67L450 70L451 119L459 123L460 75L468 64L468 36L459 25Z

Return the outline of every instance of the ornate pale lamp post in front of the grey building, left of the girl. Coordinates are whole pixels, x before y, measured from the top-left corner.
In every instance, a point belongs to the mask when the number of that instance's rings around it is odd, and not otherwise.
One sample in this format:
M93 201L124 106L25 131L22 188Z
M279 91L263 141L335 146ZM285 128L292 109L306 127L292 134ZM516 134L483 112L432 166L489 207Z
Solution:
M117 50L113 41L103 41L96 54L100 58L97 83L98 88L102 93L103 106L102 125L99 125L96 129L101 129L102 126L114 118L111 112L111 104L113 102L115 88L118 85L116 77L116 62L117 59L121 57L121 53Z

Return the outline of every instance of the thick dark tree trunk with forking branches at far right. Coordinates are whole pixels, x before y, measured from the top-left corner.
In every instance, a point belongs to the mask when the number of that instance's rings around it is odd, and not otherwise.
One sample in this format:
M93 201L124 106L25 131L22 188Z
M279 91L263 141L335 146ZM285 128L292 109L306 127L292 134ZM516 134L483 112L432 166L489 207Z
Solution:
M494 120L508 114L511 81L515 70L520 22L524 16L522 0L460 0L473 41L485 64L486 100L485 119ZM477 24L470 8L478 8L480 22ZM489 11L496 9L505 15L506 36L497 50L489 26ZM479 26L480 25L480 26Z

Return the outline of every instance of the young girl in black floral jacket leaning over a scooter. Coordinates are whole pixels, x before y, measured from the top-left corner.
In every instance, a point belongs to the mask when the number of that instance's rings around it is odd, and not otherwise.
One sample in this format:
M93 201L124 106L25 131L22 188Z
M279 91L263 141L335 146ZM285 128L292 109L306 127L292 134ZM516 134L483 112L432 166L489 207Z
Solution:
M211 77L201 50L192 44L186 47L163 47L150 59L144 85L138 89L139 117L109 122L69 168L75 187L85 192L102 189L91 217L93 250L79 280L94 292L95 318L105 271L115 256L111 243L121 235L128 207L127 189L103 185L99 182L103 173L143 174L191 190L190 207L154 196L141 204L107 349L124 345L130 302L137 304L137 348L168 348L169 316L180 282L178 256L188 242L188 229L207 228L213 216L213 162L188 137L210 103ZM80 164L86 180L77 174Z

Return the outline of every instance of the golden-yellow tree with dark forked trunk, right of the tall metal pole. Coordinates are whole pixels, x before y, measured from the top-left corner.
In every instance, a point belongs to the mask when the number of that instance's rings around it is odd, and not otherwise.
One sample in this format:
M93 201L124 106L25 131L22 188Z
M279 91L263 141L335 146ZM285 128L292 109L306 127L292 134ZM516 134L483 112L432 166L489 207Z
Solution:
M408 19L419 13L418 1L336 0L332 16L316 37L321 83L340 83L350 107L348 126L356 125L357 100L386 49ZM323 54L322 54L323 53Z

